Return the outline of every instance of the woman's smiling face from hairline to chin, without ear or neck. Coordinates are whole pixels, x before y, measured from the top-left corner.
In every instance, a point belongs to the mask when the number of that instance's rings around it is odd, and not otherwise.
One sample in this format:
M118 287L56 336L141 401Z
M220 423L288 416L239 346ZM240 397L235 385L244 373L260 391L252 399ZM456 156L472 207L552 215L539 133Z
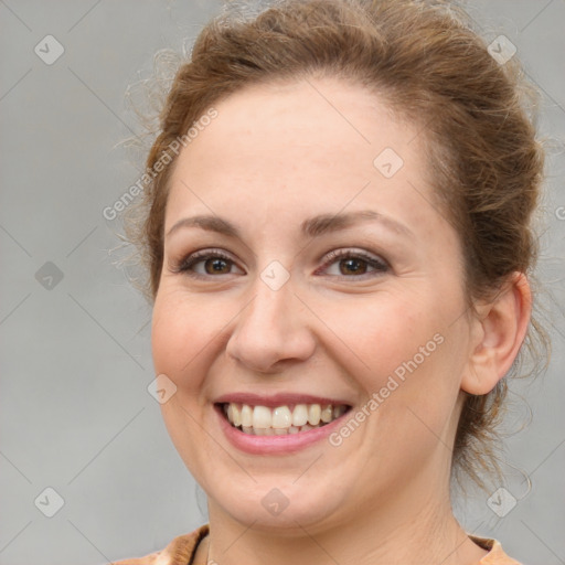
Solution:
M315 532L447 497L471 341L426 131L330 78L215 108L171 179L152 321L211 518Z

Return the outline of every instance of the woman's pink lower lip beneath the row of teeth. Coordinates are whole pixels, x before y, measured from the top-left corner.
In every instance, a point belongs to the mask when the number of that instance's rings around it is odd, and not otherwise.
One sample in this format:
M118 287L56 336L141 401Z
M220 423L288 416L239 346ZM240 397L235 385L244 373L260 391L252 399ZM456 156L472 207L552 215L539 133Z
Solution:
M220 427L228 441L237 449L252 455L282 455L300 451L308 446L321 441L332 431L335 431L335 429L341 426L342 418L350 413L350 411L348 411L329 424L319 428L309 429L308 431L298 431L297 434L286 434L284 436L255 436L252 434L245 434L245 431L241 431L232 426L224 416L224 412L221 406L214 406L214 409L220 418Z

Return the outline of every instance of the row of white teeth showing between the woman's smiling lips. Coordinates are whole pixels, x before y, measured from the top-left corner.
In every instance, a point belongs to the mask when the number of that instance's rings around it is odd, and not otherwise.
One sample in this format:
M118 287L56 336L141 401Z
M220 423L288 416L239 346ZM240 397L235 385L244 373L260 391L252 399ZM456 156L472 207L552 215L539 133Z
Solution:
M241 403L217 405L232 427L254 436L286 436L323 427L351 409L347 404L296 404L252 406Z

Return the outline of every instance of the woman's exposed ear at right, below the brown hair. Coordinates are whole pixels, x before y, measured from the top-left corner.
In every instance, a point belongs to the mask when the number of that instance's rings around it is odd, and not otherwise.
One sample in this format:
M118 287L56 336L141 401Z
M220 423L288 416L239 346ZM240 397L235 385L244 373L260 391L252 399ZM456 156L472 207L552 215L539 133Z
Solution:
M494 300L477 307L471 354L461 388L487 394L508 373L524 341L532 315L532 294L523 273L513 273Z

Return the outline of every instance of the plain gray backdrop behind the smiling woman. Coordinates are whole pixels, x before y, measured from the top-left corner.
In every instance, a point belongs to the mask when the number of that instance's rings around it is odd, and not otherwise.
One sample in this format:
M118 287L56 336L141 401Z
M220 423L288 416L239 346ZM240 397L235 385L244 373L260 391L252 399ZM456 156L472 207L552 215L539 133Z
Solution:
M206 521L147 391L150 308L113 264L119 224L102 211L142 166L119 146L141 131L125 105L128 85L149 76L157 50L190 49L220 9L0 0L0 565L102 564L162 548ZM540 130L551 145L540 273L561 305L565 1L473 0L469 10L487 40L503 33L518 46L543 92ZM34 53L47 34L65 49L52 65ZM514 385L513 417L525 414L521 395L533 423L508 441L507 460L530 473L532 490L508 466L519 501L505 516L484 493L457 505L468 531L531 565L565 563L565 328L550 308L548 372ZM47 487L64 500L53 518L40 511L55 508Z

